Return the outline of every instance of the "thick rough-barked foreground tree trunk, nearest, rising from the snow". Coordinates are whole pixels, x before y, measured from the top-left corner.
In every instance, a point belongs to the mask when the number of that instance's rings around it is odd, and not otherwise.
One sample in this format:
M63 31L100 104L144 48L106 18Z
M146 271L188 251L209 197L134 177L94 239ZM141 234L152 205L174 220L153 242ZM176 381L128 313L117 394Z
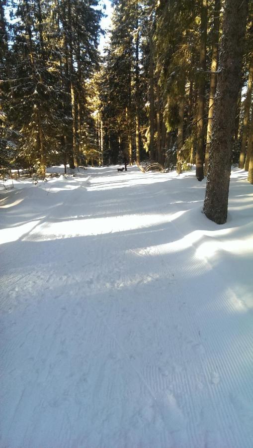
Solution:
M207 218L217 224L226 223L228 213L231 143L241 84L247 10L247 0L226 0L203 208Z

